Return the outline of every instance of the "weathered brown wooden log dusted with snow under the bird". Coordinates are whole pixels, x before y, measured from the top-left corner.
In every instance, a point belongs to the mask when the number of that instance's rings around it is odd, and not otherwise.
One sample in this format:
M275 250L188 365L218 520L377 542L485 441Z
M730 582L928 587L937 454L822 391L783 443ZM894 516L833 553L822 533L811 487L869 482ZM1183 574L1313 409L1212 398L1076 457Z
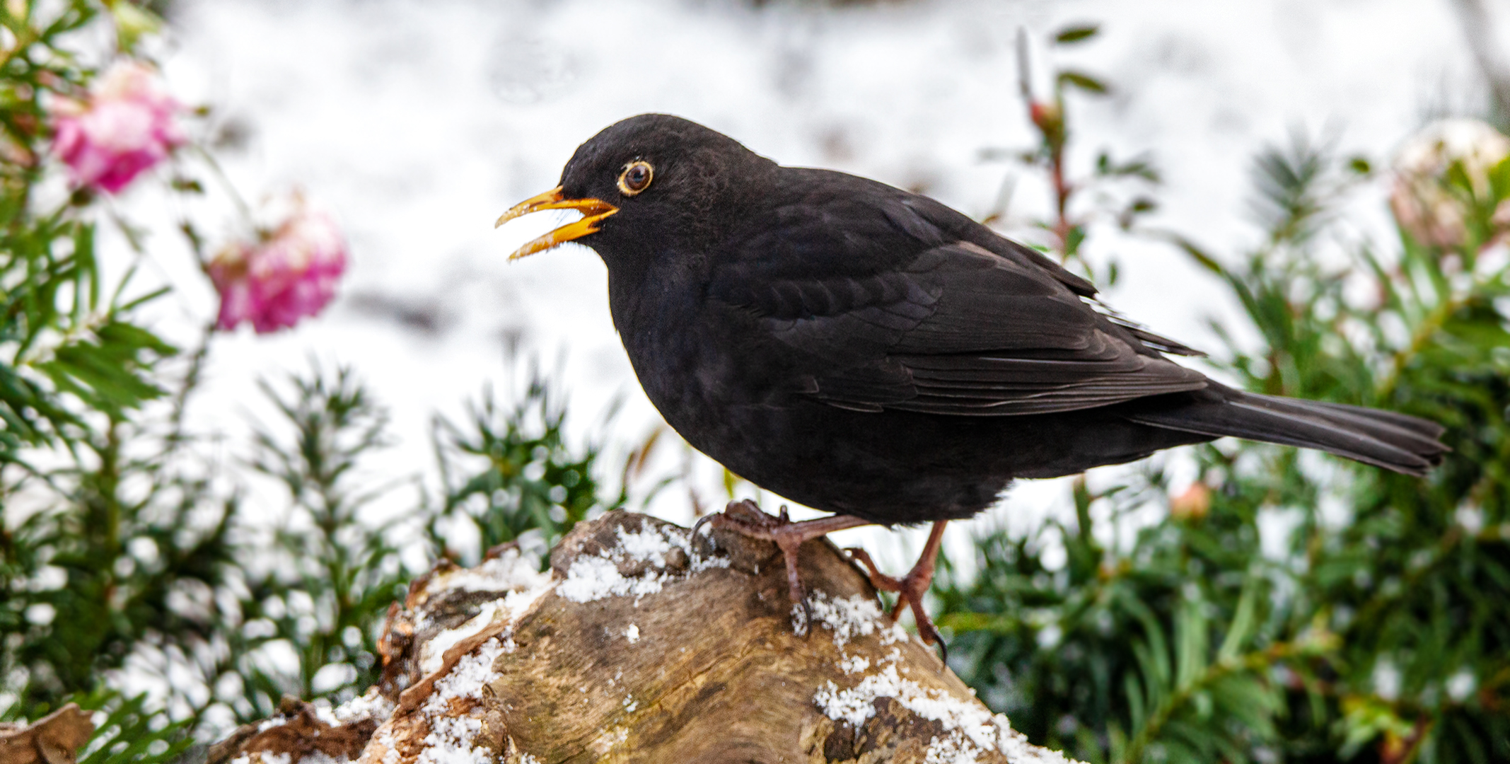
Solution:
M516 550L441 566L390 613L384 682L290 704L208 764L1063 762L888 622L826 541L806 636L773 544L612 512L538 572ZM287 753L285 759L282 755Z

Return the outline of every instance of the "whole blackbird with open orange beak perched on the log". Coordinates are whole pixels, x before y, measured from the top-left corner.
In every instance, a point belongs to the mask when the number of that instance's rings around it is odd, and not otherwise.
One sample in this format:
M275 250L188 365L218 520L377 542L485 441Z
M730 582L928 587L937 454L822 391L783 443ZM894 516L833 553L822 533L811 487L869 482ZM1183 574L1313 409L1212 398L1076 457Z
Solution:
M944 524L1018 477L1057 477L1225 435L1320 448L1407 474L1442 427L1385 411L1243 393L1166 355L1200 355L1096 302L1040 252L927 198L784 168L667 115L583 143L560 186L513 207L583 217L510 258L580 240L609 267L634 373L693 447L755 485L835 516L717 522L796 550L862 524L933 522L901 580L921 596ZM894 613L895 615L895 613Z

